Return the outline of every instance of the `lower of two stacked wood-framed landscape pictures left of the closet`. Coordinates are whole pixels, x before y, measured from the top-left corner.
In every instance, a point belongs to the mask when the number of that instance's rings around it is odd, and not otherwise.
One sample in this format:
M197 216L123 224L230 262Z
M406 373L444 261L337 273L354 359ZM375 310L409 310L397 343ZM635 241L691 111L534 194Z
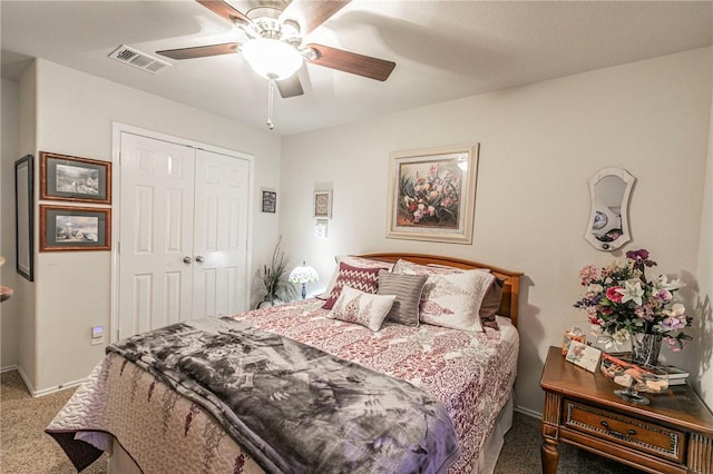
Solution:
M40 251L111 249L111 209L40 206Z

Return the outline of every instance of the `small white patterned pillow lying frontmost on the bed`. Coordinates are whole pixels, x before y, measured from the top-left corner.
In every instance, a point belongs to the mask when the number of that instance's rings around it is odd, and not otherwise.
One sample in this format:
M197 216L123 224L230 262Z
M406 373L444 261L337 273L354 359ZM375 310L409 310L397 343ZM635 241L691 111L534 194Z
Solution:
M394 299L395 295L374 295L344 286L328 317L359 324L375 333L381 329Z

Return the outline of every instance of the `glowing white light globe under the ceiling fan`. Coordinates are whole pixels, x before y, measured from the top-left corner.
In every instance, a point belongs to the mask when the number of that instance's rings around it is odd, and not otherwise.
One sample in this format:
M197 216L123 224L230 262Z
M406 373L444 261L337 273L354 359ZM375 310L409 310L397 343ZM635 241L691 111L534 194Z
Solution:
M243 57L266 79L283 80L302 67L303 57L294 47L271 38L256 38L243 45Z

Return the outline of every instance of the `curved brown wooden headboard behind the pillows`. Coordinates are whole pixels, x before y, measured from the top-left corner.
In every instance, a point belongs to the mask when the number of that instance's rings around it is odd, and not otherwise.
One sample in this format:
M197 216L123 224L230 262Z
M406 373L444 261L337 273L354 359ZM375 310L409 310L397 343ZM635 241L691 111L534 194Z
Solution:
M492 275L500 278L505 283L502 284L502 300L500 302L500 310L498 312L501 316L507 316L510 318L512 324L517 326L517 313L518 313L518 302L520 294L520 277L522 276L521 271L510 271L504 268L494 267L492 265L480 264L478 261L469 261L460 258L451 258L451 257L440 257L436 255L424 255L424 254L394 254L394 253L384 253L384 254L367 254L359 255L359 257L371 258L374 260L382 261L397 261L398 259L403 259L408 261L412 261L419 265L445 265L448 267L463 268L463 269L475 269L475 268L487 268L490 270Z

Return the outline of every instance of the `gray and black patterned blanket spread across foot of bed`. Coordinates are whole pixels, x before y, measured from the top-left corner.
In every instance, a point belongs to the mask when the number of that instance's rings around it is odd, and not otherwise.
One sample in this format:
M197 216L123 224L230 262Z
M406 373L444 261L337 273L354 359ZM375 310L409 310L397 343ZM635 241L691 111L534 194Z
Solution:
M232 318L107 347L208 411L267 472L440 473L458 457L431 395Z

